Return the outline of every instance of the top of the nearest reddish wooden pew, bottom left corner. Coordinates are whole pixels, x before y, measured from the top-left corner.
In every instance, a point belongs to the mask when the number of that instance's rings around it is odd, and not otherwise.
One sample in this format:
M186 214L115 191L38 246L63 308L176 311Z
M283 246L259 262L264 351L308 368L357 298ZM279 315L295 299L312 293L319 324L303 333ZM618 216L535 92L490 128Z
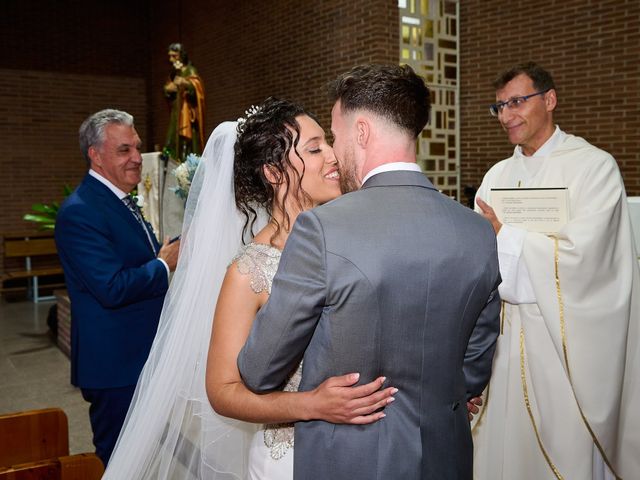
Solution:
M99 480L102 462L94 453L0 467L0 480Z

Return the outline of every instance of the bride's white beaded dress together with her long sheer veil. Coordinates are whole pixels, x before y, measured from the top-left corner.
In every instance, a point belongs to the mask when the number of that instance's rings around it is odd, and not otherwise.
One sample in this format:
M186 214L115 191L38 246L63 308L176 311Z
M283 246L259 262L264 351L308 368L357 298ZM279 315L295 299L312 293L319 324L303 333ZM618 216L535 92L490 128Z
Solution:
M245 219L233 189L236 135L236 122L216 127L193 178L158 333L103 479L293 478L293 428L217 415L205 389L213 312L227 267L236 255L254 291L270 291L280 259L276 249L249 244L250 237L242 247ZM255 231L267 220L264 212L258 217ZM296 382L299 372L287 388L297 389Z

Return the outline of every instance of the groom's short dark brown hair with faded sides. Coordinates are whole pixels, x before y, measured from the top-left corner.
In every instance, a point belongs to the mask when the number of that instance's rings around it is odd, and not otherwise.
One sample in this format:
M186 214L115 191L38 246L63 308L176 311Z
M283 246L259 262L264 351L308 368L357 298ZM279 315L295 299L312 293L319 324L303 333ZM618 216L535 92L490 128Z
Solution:
M358 65L332 81L328 91L343 112L368 110L414 138L429 122L429 89L409 65Z

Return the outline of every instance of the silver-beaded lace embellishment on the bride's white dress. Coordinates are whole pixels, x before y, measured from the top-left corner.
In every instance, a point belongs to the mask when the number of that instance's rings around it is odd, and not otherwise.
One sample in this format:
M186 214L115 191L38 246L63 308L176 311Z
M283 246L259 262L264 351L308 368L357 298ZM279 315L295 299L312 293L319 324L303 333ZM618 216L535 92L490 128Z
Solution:
M249 243L243 246L233 261L243 275L251 277L251 289L255 293L271 294L273 277L280 263L280 250L260 243ZM297 392L302 378L302 364L289 377L284 387L285 392ZM283 423L264 426L264 444L269 449L271 458L282 458L287 450L293 447L293 424Z

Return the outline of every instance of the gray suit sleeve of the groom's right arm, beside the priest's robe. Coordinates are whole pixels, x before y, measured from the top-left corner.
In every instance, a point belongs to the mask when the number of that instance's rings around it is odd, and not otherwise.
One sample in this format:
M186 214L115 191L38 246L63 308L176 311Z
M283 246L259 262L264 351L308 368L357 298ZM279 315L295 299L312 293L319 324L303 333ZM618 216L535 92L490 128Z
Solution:
M496 340L500 334L500 295L498 286L501 278L498 271L497 254L495 261L493 288L486 305L480 312L471 332L469 344L464 355L464 377L467 386L467 399L477 397L489 383Z

